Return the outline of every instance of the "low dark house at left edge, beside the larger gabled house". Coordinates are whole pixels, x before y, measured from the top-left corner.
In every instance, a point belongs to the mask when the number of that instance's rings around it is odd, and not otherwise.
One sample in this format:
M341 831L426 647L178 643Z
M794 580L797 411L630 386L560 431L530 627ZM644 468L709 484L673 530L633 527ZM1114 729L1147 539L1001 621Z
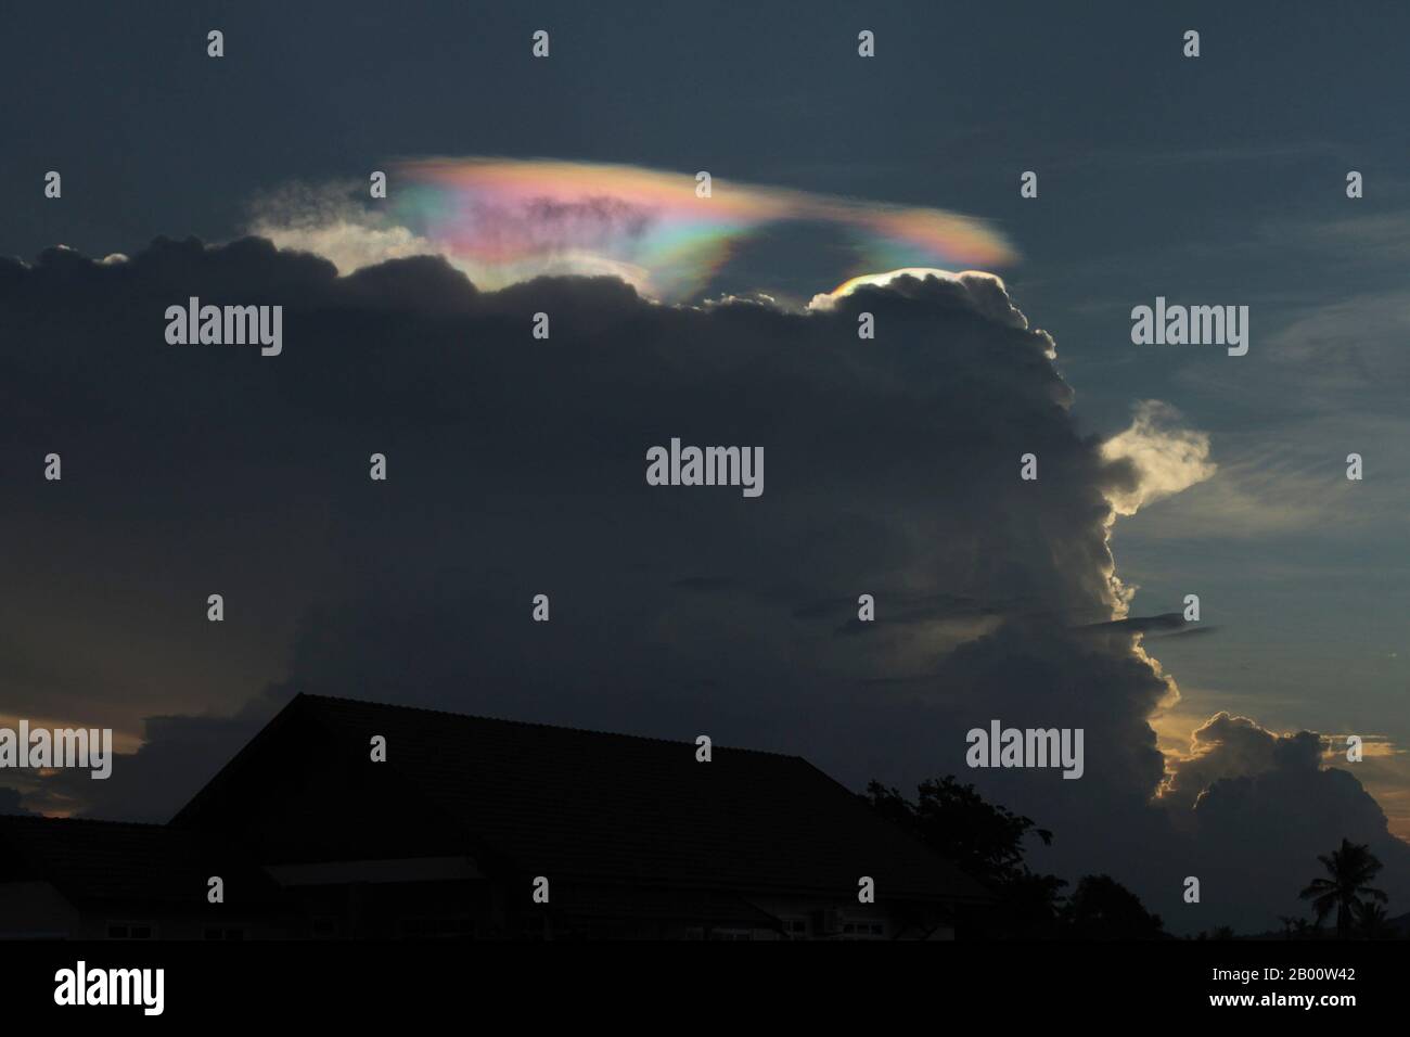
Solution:
M212 878L238 897L210 903ZM196 834L0 815L0 938L278 938L299 924L278 883Z

